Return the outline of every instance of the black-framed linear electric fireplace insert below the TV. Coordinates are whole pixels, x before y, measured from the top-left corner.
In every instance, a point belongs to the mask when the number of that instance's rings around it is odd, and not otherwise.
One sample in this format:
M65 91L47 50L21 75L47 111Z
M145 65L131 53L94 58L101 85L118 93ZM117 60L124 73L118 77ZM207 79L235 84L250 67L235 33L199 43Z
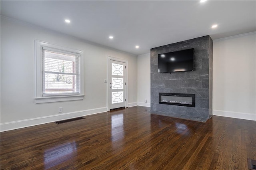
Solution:
M159 93L159 104L195 107L195 94Z

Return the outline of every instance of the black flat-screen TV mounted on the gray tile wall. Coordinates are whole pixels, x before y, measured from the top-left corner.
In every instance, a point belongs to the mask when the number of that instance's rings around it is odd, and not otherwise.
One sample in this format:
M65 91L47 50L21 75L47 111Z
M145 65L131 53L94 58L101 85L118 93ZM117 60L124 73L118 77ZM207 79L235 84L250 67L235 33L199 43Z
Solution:
M158 73L193 71L194 48L158 54Z

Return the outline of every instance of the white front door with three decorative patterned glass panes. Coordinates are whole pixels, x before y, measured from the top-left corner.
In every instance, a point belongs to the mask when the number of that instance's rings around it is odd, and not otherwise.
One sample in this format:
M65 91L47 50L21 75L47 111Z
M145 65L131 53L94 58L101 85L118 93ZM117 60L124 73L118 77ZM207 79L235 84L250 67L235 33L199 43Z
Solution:
M108 98L108 100L110 100L110 109L125 107L125 63L110 59L108 68L108 88L110 88L110 98Z

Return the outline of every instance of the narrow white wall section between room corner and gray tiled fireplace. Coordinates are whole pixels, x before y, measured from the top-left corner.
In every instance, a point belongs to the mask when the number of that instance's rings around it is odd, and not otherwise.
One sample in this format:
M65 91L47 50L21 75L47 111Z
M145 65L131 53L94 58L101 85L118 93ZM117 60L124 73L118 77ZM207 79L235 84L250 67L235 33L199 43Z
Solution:
M138 105L150 107L150 53L138 55Z

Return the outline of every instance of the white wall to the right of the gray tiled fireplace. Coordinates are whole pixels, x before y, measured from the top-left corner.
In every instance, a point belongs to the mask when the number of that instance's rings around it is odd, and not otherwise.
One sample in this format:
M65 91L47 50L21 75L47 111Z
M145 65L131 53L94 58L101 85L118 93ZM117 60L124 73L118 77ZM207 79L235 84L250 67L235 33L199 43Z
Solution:
M256 121L256 33L213 43L213 115Z

